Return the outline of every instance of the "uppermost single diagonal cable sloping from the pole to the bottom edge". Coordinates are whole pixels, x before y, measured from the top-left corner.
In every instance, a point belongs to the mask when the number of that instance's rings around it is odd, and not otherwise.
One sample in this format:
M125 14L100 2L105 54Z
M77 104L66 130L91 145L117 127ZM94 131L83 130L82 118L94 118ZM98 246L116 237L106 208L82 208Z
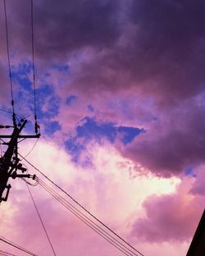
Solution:
M19 153L21 156L21 154ZM23 158L21 156L21 158ZM24 158L25 159L25 158ZM133 249L136 253L140 254L141 256L144 256L144 254L141 254L139 250L135 249L132 245L130 245L127 241L125 241L123 238L121 238L120 235L117 235L115 231L112 231L110 227L105 225L103 222L101 222L97 217L95 217L92 213L90 213L84 206L82 206L80 203L78 203L70 194L68 194L65 190L63 190L59 185L57 185L55 182L53 182L48 176L44 175L42 171L40 171L37 167L34 167L32 163L30 163L27 159L25 159L25 162L29 163L31 167L33 167L36 171L39 171L41 175L43 175L48 181L50 181L53 185L55 185L59 190L61 190L66 196L68 196L73 202L75 202L80 208L82 208L86 213L89 214L89 216L93 217L97 222L99 222L101 225L107 228L108 231L111 231L113 235L116 235L122 242L124 242L126 245L129 245L131 249Z

